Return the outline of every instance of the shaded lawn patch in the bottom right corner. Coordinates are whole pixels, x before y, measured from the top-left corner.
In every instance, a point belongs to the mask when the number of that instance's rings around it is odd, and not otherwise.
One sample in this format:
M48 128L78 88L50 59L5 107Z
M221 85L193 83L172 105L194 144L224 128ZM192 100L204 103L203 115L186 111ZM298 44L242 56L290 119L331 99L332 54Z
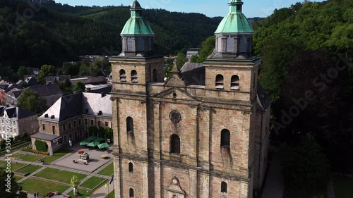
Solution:
M333 175L333 188L335 189L335 198L352 198L353 178Z

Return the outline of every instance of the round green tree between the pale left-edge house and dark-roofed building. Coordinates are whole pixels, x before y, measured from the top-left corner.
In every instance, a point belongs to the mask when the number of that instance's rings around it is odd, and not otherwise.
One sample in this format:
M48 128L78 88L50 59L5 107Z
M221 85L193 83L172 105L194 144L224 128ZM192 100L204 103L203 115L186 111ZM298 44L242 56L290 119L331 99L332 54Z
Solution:
M47 101L40 98L40 94L37 92L31 92L29 89L25 89L18 97L17 106L32 111L34 113L41 113L47 109Z

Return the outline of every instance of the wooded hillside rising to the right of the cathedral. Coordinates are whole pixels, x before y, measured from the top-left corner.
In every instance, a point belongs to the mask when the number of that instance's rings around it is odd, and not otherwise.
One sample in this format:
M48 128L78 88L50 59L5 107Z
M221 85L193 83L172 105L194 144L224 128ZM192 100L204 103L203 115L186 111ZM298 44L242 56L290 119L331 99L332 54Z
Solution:
M311 133L333 171L352 174L353 1L297 3L254 30L260 82L275 100L273 135L297 145Z

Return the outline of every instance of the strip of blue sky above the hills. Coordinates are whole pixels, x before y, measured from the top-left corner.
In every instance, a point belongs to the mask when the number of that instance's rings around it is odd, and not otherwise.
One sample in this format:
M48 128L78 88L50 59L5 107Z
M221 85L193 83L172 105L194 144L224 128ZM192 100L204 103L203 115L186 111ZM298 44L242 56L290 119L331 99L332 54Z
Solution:
M289 7L304 0L243 0L243 13L246 17L266 17L275 8ZM322 1L322 0L316 0ZM56 0L57 3L71 6L119 6L130 5L133 0ZM162 8L168 11L186 13L203 13L206 16L225 16L228 12L229 0L139 0L143 8Z

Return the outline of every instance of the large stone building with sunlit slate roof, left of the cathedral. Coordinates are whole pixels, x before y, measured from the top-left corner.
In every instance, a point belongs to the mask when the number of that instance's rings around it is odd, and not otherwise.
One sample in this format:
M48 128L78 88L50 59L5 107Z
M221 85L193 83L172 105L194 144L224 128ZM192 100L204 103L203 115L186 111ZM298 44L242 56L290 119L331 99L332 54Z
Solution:
M55 152L68 145L68 140L87 138L91 125L111 128L110 95L84 92L63 96L38 118L38 124L39 132L31 136L33 149L35 140L42 140Z

